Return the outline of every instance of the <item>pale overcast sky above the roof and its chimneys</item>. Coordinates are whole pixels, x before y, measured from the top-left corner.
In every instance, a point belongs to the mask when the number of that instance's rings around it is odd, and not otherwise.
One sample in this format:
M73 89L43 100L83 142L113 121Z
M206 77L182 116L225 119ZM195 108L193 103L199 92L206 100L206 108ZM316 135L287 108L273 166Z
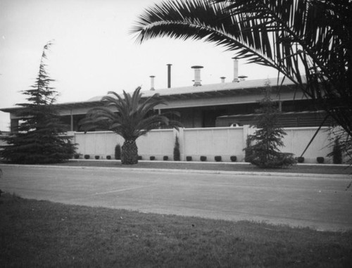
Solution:
M199 41L153 39L136 44L129 33L144 8L160 0L0 0L0 108L24 101L39 70L43 46L54 40L48 54L58 103L86 101L107 91L150 89L167 84L192 85L192 65L203 65L202 84L233 79L233 52ZM239 61L247 79L275 77L277 72ZM9 114L0 112L0 130L8 130Z

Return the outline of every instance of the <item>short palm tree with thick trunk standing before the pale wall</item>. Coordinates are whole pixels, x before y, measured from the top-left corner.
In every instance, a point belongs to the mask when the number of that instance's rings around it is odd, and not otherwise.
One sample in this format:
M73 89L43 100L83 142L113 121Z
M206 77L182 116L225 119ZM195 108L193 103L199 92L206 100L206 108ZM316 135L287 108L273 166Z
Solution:
M138 162L136 139L139 136L158 127L170 126L176 129L180 127L180 122L170 120L167 114L154 113L156 106L165 104L163 98L154 94L144 99L140 91L141 87L137 87L132 96L123 91L123 98L109 91L107 96L101 98L104 106L89 110L80 122L84 132L104 129L122 136L125 142L121 147L121 162L126 165L134 165Z

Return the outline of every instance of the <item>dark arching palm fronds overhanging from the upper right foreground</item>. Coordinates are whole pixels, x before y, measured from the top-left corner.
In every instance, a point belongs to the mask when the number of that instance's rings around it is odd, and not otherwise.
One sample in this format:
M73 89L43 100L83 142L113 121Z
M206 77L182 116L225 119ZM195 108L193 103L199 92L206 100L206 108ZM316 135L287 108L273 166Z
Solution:
M352 149L351 13L351 0L168 0L139 15L132 33L141 43L213 42L277 69L341 125Z

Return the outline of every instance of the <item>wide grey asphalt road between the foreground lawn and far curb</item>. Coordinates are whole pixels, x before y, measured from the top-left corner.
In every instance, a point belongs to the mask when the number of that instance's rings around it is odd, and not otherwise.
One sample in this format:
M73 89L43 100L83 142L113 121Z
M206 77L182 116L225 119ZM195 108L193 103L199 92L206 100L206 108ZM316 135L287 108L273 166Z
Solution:
M140 212L352 229L351 177L199 174L0 165L0 189L23 198Z

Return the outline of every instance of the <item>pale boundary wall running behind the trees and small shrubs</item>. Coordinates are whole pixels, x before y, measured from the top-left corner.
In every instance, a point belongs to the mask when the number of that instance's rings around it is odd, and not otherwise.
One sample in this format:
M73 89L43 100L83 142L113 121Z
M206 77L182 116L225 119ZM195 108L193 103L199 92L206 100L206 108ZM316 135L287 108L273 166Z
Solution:
M294 153L300 156L308 145L310 139L315 134L316 127L287 128L287 136L284 137L285 153ZM325 158L325 162L331 162L327 154L332 151L329 146L332 138L331 129L325 127L320 129L304 153L305 162L316 162L318 156ZM191 156L192 160L199 161L201 155L207 157L208 161L214 161L215 155L220 155L222 161L230 161L231 155L237 156L237 161L243 161L246 147L246 136L253 134L255 129L249 126L244 127L214 127L197 129L156 129L145 136L137 139L138 153L143 160L149 160L150 156L155 156L156 160L163 160L167 155L173 159L173 149L175 146L175 136L180 142L181 160L186 160ZM123 139L113 132L74 132L74 141L77 143L77 152L82 155L100 155L106 158L111 155L113 158L116 144L122 146Z

